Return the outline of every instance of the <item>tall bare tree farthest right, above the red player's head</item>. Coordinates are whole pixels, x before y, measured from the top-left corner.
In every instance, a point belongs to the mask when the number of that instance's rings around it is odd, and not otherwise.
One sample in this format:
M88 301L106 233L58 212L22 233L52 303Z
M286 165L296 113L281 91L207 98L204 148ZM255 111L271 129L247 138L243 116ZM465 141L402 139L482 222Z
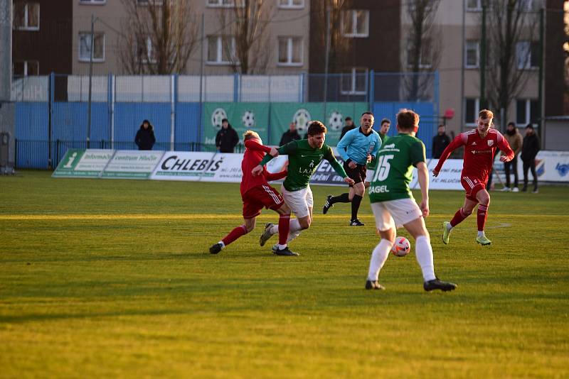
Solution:
M508 114L528 80L528 70L536 67L539 57L539 13L527 9L523 0L487 0L488 33L486 99ZM533 71L533 70L532 70ZM485 106L486 104L482 104Z

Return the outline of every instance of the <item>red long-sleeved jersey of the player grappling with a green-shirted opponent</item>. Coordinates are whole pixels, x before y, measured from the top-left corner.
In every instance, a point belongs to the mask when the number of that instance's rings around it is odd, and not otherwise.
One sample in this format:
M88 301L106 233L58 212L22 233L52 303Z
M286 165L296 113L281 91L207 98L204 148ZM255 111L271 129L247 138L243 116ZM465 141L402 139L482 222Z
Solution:
M259 165L265 153L269 153L271 148L261 145L255 138L245 141L245 153L241 162L241 171L243 178L241 179L241 196L249 189L257 187L257 185L269 185L267 180L279 180L287 176L287 170L272 174L267 171L267 167L262 166L262 175L253 176L251 171Z

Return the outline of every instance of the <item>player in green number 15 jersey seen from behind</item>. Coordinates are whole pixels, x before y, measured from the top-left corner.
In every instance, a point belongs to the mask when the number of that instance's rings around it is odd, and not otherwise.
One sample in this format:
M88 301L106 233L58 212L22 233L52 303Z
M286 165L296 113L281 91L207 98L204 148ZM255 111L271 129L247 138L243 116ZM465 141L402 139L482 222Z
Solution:
M415 238L415 256L422 270L425 291L452 291L457 287L435 276L430 236L423 219L429 215L429 172L425 163L425 145L415 138L418 128L419 115L401 109L397 114L398 135L388 138L378 151L369 199L381 241L371 255L366 290L384 289L378 283L379 271L393 247L395 230L400 226ZM417 167L419 176L420 206L409 188L413 166Z

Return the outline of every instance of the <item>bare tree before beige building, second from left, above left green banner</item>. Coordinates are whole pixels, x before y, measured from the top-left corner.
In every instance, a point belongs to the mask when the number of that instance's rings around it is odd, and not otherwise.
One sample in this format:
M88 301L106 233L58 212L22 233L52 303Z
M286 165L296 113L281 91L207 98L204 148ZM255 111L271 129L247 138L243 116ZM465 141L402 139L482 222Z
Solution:
M265 73L272 57L270 33L272 0L233 0L219 10L223 51L234 72Z

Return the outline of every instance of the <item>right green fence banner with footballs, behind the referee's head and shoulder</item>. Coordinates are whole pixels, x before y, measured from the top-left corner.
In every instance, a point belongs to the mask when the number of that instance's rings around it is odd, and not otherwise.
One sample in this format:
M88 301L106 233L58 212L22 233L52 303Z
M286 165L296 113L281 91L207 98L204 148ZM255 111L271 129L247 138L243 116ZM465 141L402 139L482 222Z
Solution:
M326 143L335 146L344 128L344 119L350 116L358 125L361 114L367 110L368 103L272 103L269 144L278 145L292 121L304 137L310 121L318 120L328 129Z

